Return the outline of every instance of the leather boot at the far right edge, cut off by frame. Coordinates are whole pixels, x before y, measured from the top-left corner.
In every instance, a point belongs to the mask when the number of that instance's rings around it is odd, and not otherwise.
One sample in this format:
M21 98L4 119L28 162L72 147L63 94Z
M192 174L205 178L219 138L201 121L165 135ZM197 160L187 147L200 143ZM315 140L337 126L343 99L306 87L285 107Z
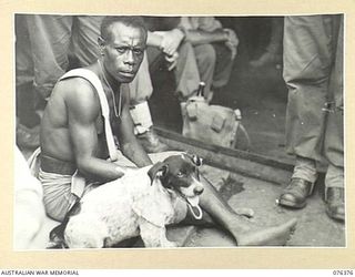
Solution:
M328 187L326 191L326 214L336 220L345 220L344 188Z

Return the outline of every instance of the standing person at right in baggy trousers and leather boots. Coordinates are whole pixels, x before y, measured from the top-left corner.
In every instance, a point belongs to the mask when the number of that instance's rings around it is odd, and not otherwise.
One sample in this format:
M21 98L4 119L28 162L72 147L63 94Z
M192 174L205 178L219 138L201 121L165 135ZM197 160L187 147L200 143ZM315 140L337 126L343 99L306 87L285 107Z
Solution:
M296 164L280 204L306 205L317 179L316 163L325 157L326 213L344 222L342 16L285 18L284 79L286 150L296 155Z

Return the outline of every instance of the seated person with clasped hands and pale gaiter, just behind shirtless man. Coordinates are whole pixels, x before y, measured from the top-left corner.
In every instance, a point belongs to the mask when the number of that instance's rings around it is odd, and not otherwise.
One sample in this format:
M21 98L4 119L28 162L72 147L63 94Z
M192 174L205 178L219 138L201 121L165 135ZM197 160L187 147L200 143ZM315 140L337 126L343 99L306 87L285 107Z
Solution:
M178 29L179 18L145 17L148 25L146 59L130 83L131 115L135 124L134 132L148 153L166 151L152 129L153 122L148 100L153 93L151 75L162 69L172 71L175 80L175 96L185 100L196 92L200 76L195 57L190 43L184 42L184 33ZM168 53L168 45L170 47ZM171 94L171 96L174 96Z

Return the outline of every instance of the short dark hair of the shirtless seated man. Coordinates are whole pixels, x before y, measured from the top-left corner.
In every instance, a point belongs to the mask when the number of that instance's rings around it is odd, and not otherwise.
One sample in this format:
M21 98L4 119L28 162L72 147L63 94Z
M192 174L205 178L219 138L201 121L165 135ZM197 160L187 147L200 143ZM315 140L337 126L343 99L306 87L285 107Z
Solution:
M145 39L146 39L148 30L146 30L146 27L145 27L145 23L144 23L144 20L142 17L106 16L102 20L101 30L100 30L100 32L101 32L100 35L103 40L111 40L110 27L116 22L121 22L122 24L128 25L128 27L140 28L143 31Z

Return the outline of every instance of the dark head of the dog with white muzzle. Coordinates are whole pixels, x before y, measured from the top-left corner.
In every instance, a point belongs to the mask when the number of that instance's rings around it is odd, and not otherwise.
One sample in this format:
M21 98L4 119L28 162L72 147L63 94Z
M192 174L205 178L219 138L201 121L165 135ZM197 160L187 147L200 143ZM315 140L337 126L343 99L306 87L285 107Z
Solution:
M181 194L192 206L199 204L199 195L203 193L203 184L200 182L199 166L202 158L196 155L183 153L173 155L159 162L149 171L152 182L160 178L165 188Z

